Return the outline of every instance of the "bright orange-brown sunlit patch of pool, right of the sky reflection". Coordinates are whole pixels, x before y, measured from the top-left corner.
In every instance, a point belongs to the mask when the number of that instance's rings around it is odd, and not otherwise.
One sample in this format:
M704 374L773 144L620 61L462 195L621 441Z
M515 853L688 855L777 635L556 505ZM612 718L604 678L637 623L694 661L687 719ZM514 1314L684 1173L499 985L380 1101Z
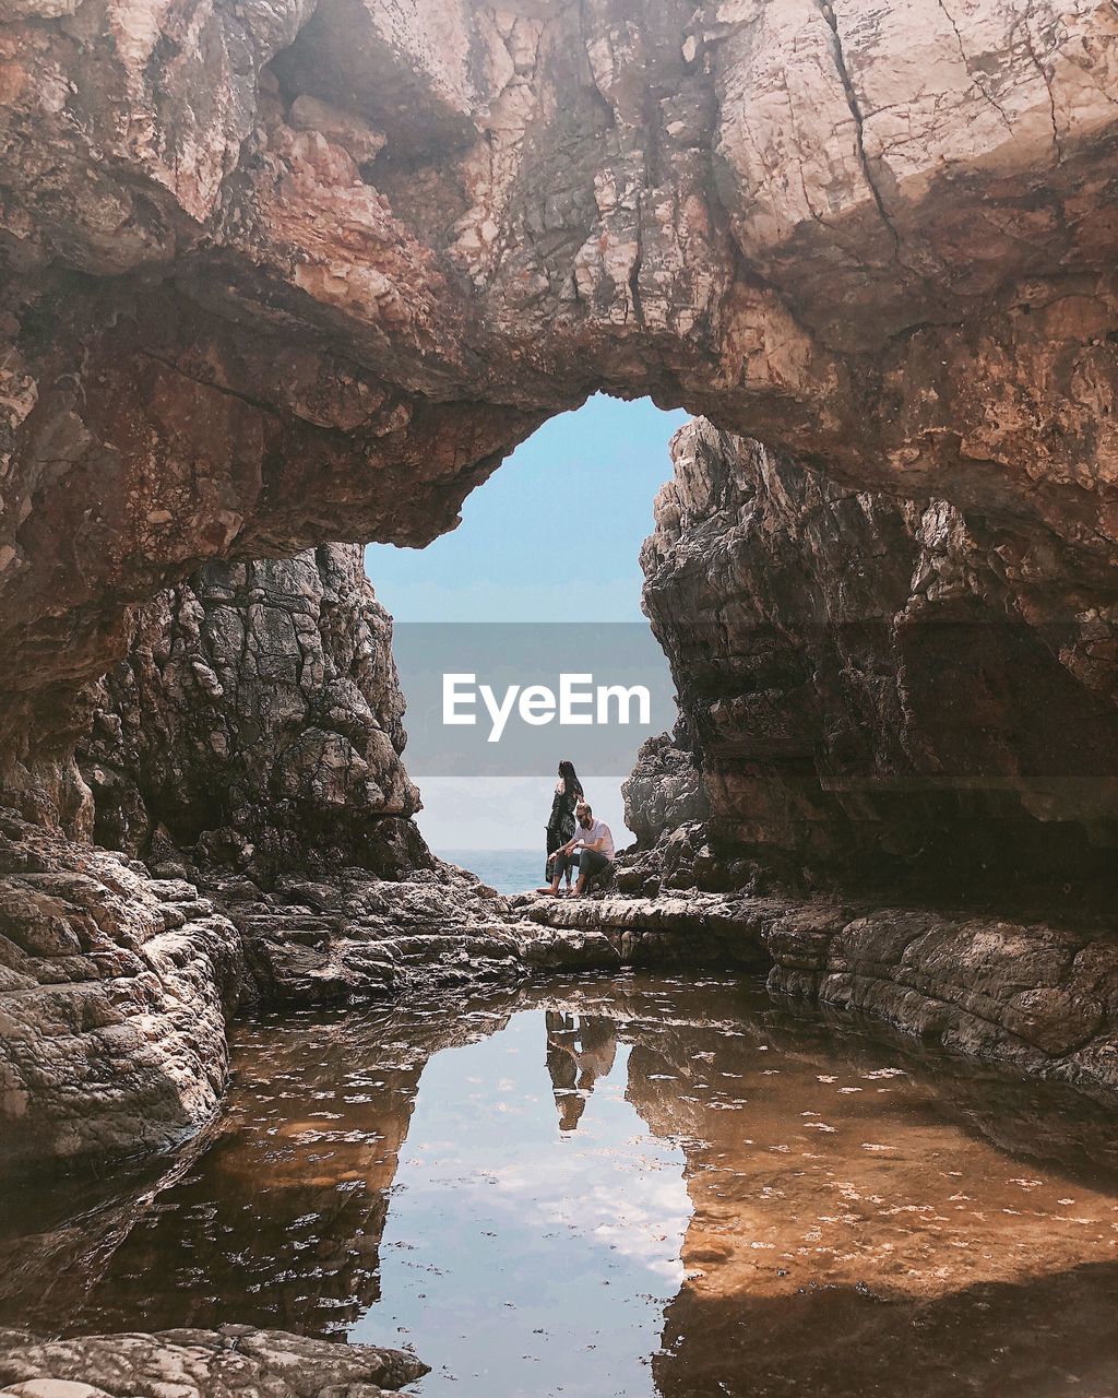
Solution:
M928 1300L1111 1258L1112 1192L1061 1166L1037 1179L1043 1167L960 1135L953 1078L910 1076L880 1050L847 1060L841 1042L781 1051L763 1025L745 1028L648 1028L629 1060L629 1100L657 1134L685 1138L685 1290L739 1304L805 1286ZM998 1089L975 1086L971 1111L996 1123ZM1082 1110L1104 1146L1105 1114ZM1065 1156L1073 1141L1075 1127Z

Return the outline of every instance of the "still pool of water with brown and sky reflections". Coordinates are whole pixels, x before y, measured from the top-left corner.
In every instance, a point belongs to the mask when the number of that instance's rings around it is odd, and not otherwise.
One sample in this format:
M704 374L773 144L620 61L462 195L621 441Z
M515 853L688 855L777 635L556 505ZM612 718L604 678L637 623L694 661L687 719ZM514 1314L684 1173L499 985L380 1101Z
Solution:
M753 981L263 1018L162 1176L8 1187L0 1323L409 1345L422 1398L1118 1392L1112 1116Z

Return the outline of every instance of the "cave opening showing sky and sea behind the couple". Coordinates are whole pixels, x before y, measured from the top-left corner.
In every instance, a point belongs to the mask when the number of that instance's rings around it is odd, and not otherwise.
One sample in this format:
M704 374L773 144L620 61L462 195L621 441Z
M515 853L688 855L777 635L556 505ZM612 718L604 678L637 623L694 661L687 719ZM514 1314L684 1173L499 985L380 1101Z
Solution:
M544 877L542 826L560 759L573 761L618 849L634 837L622 783L641 744L676 719L667 658L641 612L640 552L657 491L672 474L669 440L688 421L648 398L593 396L516 447L467 498L456 530L422 551L365 551L366 573L394 618L408 705L404 761L423 800L416 823L436 856L502 893ZM478 744L463 752L454 742L461 728L440 721L443 671L488 667L523 688L545 678L555 685L563 672L593 675L602 664L611 674L636 670L657 698L655 713L650 707L643 724L634 713L614 741L587 745L581 719L563 726L556 714L521 727L507 756Z

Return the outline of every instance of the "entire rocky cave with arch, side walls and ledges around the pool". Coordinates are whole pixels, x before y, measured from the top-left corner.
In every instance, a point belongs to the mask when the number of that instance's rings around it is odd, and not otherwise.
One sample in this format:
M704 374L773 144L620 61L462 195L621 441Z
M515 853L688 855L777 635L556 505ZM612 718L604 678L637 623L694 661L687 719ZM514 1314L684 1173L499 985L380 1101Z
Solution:
M13 1179L173 1170L238 1016L619 969L1105 1121L1110 0L0 0L0 94ZM692 415L640 558L679 719L615 888L509 899L414 822L362 547L594 393ZM172 1325L113 1376L38 1328L3 1391L423 1367Z

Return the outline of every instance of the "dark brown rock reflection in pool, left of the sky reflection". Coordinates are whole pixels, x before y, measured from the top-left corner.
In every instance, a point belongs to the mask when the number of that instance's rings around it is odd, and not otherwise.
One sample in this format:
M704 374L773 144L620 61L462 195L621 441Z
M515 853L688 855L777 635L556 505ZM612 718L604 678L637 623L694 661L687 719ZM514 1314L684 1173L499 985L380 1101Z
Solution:
M59 1316L99 1332L235 1316L344 1332L380 1293L389 1191L425 1064L500 1028L471 1008L433 1001L242 1028L225 1113L186 1169L39 1236L20 1232L42 1201L25 1187L36 1206L0 1247L20 1262L0 1278L0 1317L39 1331ZM486 1009L499 1012L499 1000Z

